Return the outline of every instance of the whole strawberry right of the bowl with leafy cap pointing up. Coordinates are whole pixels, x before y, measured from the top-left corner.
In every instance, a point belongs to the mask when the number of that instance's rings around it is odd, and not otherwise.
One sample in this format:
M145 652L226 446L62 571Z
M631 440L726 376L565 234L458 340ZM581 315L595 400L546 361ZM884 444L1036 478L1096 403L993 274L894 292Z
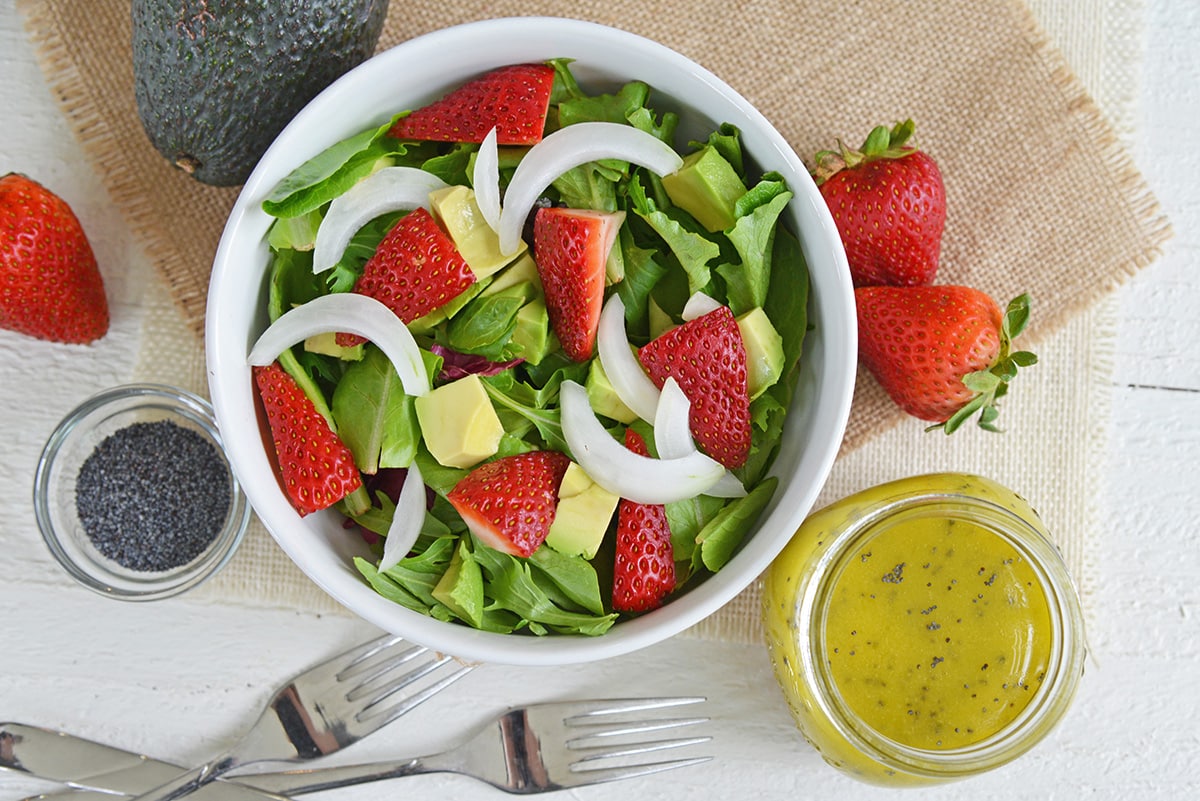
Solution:
M812 171L846 248L854 287L918 287L937 275L946 187L907 144L912 120L871 131L860 150L821 151Z

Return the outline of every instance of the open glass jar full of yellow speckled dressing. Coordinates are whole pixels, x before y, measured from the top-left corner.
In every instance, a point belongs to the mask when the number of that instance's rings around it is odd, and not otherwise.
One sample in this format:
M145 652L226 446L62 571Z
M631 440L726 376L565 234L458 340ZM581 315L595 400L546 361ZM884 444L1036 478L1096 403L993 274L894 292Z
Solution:
M811 514L766 573L763 621L805 739L884 785L1025 753L1067 711L1086 651L1078 594L1037 513L965 474Z

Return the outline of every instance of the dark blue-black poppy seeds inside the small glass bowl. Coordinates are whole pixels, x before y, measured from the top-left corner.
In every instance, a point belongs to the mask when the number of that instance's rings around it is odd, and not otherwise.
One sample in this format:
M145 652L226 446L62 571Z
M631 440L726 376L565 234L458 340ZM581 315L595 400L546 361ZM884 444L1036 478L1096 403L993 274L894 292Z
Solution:
M168 420L138 422L104 438L84 460L76 511L88 538L128 570L162 572L199 556L232 504L221 453Z

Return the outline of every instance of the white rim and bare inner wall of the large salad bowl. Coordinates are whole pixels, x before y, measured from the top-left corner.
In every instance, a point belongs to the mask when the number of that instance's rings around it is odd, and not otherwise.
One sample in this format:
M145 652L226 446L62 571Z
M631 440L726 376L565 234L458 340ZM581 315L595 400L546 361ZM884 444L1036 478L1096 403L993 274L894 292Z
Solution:
M239 248L244 245L252 245L259 251L263 248L268 222L264 219L266 216L260 210L260 203L277 181L296 164L338 140L338 137L330 138L332 134L328 134L324 137L329 139L328 141L324 139L314 141L308 135L311 132L307 128L314 125L330 125L329 120L336 118L340 109L347 103L353 104L355 98L347 100L346 92L361 88L370 77L404 74L404 70L418 68L422 60L433 59L448 48L468 54L464 59L469 64L478 64L482 59L473 48L494 53L488 60L492 67L544 58L569 58L572 48L580 50L607 48L610 53L620 53L620 66L617 72L624 76L622 80L634 77L631 71L638 67L631 65L653 62L656 70L644 72L641 79L656 91L662 91L665 97L673 95L670 90L660 89L664 83L685 84L694 91L712 94L714 106L719 101L721 116L732 115L742 122L738 127L743 130L744 140L756 143L754 147L748 144L748 151L754 159L776 170L786 167L782 171L791 174L790 186L798 185L791 186L794 194L790 207L793 209L791 213L794 221L804 229L796 233L802 239L802 247L810 267L812 264L810 251L817 252L814 248L817 248L818 243L820 252L834 261L834 269L827 270L828 275L824 276L820 288L816 282L812 285L812 296L822 295L821 303L815 305L810 297L810 309L816 307L815 317L820 317L824 326L816 332L814 342L823 342L824 349L816 355L806 353L805 357L806 366L812 365L821 384L820 392L815 395L814 403L806 406L805 415L820 418L821 430L817 434L823 441L820 452L804 454L803 466L808 482L803 487L794 487L796 481L786 486L781 483L772 505L760 518L758 528L762 529L768 519L778 517L781 520L776 526L779 530L770 537L770 542L767 542L767 537L748 541L733 560L718 573L707 577L702 586L690 590L659 610L622 621L600 637L538 638L496 634L437 621L388 602L374 594L356 574L348 577L330 570L329 565L319 564L311 548L306 548L294 535L289 536L288 531L277 530L281 528L280 519L289 520L286 526L289 530L293 528L292 523L298 520L295 511L278 489L277 481L247 482L247 476L242 476L244 471L247 474L260 471L266 464L263 434L258 427L257 402L252 393L250 368L245 362L252 335L250 331L239 332L235 325L229 324L223 314L222 303L227 299L235 300L230 296L233 290L229 288L239 279L242 284L239 296L247 295L245 290L247 253ZM572 64L572 67L581 64L586 66L586 62L580 60ZM460 74L469 74L467 65L457 70ZM664 80L667 73L671 76L670 82ZM463 79L466 78L448 78L424 91L444 91L456 80L461 83ZM397 98L388 110L401 108L401 103L406 100L413 102L408 97ZM720 121L722 120L718 120ZM341 125L346 131L344 135L349 135L364 130L371 122L370 119L358 119L352 124ZM749 131L748 124L752 126ZM289 151L292 152L286 158L281 156ZM703 66L665 44L598 23L558 17L503 17L464 23L404 41L347 72L284 127L254 168L230 212L214 259L205 318L210 393L218 426L227 432L230 464L235 474L242 478L244 490L265 528L310 579L359 616L380 628L467 660L546 666L608 658L678 634L730 602L766 570L815 502L838 454L850 415L856 380L857 327L853 291L845 259L841 240L828 209L796 151L762 113ZM256 278L262 282L263 276L258 275ZM256 314L259 315L260 312ZM802 368L802 380L803 373L804 368ZM792 420L794 416L794 414L788 415L788 424L797 424ZM259 453L256 454L253 452L256 450ZM796 477L794 472L792 478ZM794 494L788 490L794 490ZM787 508L781 508L785 495L790 495Z

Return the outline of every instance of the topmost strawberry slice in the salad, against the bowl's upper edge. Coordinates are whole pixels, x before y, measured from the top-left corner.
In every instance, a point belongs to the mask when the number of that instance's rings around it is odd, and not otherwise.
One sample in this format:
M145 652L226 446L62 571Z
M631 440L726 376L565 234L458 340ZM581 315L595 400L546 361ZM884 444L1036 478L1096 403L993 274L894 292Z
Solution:
M500 145L541 141L554 68L515 64L493 70L396 121L388 135L432 141L482 141L496 128Z

